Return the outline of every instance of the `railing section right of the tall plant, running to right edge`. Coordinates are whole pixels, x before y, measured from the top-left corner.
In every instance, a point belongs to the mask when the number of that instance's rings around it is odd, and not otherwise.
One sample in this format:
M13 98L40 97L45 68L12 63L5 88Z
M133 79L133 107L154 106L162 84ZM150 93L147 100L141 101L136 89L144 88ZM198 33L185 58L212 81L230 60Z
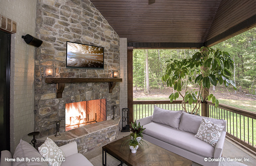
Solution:
M209 117L227 121L227 136L256 151L256 113L207 101Z

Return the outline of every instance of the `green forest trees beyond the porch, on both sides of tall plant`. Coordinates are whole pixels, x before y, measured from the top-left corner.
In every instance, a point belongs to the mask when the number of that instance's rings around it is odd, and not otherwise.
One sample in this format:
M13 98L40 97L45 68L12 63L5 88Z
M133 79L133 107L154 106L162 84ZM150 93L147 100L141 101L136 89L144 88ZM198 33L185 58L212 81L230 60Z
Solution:
M246 93L256 94L256 28L214 45L212 48L227 51L235 62L232 80ZM148 49L148 78L150 89L161 89L161 77L165 73L165 62L169 59L182 60L194 55L194 49ZM146 51L133 50L133 87L145 89ZM166 86L166 84L165 84Z

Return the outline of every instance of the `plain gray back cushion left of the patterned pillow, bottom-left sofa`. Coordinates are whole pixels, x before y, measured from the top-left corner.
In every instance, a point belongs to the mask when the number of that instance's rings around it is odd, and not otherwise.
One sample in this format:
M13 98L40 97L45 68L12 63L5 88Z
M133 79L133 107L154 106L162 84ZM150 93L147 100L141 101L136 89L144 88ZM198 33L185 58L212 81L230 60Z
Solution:
M15 161L13 166L47 166L45 161L41 161L42 156L31 144L26 141L20 140L20 143L17 145L13 158L28 158L30 161ZM40 161L34 161L32 158L39 159Z

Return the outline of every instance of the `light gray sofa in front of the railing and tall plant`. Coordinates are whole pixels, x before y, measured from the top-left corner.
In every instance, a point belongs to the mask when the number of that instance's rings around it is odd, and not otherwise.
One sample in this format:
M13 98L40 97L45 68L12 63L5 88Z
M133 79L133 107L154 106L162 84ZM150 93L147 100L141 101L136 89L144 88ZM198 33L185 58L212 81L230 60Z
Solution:
M195 137L203 118L224 126L215 147ZM225 120L196 116L183 111L164 110L155 106L152 116L136 122L140 122L146 128L143 131L145 140L201 165L219 165L218 160L222 154L226 135Z

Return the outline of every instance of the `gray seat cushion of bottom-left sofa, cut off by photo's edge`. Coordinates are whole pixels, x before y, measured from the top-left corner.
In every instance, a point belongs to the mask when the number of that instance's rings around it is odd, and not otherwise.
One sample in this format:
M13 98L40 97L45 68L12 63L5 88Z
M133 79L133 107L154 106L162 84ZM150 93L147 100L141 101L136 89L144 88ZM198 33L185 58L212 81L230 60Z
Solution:
M61 166L76 166L76 165L86 165L93 166L92 163L84 157L81 153L76 153L65 158Z

